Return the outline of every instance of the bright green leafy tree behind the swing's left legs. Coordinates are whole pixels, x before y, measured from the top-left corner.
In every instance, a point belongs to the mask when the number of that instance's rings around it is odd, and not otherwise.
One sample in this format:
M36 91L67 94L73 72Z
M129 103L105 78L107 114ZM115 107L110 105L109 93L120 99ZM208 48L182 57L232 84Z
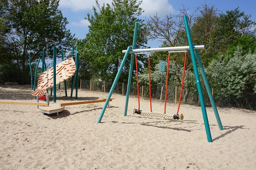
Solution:
M113 80L124 57L122 50L132 45L135 22L140 23L136 48L142 48L147 43L146 26L143 20L138 19L143 12L140 8L141 1L113 0L112 4L102 6L96 1L96 4L93 15L88 14L86 18L90 22L89 33L78 47L82 52L82 60L89 65L92 75L102 80ZM127 81L129 61L130 56L120 75L120 81ZM138 56L138 61L141 70L146 58Z

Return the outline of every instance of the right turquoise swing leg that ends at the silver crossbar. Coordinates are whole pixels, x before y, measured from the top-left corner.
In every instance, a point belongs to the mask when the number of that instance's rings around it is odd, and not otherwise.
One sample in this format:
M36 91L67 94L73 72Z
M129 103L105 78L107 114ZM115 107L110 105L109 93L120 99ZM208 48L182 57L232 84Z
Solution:
M193 45L195 45L195 44L193 44ZM209 98L210 98L210 101L211 101L211 105L212 105L212 108L213 108L215 117L216 117L216 119L217 119L219 128L220 128L220 130L223 130L223 126L222 126L222 123L221 123L221 120L220 120L220 115L219 115L219 113L218 113L216 104L215 104L215 102L214 102L214 99L213 99L213 96L212 96L212 93L211 93L211 88L210 88L209 82L208 82L208 80L207 80L207 77L206 77L206 74L205 74L205 70L203 69L203 64L202 64L201 59L200 59L200 57L199 57L198 50L194 50L194 51L195 51L196 60L197 60L198 66L199 66L199 68L200 68L201 75L202 75L202 77L203 77L203 81L205 82L205 87L206 87L207 93L208 93L208 95L209 95Z

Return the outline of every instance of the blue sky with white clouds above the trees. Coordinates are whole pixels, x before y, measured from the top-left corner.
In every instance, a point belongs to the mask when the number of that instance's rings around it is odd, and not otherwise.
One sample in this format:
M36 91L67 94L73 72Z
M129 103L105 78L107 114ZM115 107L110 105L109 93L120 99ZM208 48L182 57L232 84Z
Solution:
M112 0L98 0L100 4L111 3ZM252 20L256 21L256 1L255 0L143 0L141 7L145 11L141 18L147 19L149 15L156 12L161 16L168 13L177 13L182 4L191 9L196 8L201 4L207 3L214 5L218 10L225 12L226 10L233 10L239 6L241 11L246 14L252 15ZM88 33L89 22L84 19L88 13L92 14L92 6L95 6L95 0L60 0L59 9L62 11L63 16L67 17L69 24L67 28L70 29L72 34L79 39L85 38ZM148 46L159 47L161 42L148 41Z

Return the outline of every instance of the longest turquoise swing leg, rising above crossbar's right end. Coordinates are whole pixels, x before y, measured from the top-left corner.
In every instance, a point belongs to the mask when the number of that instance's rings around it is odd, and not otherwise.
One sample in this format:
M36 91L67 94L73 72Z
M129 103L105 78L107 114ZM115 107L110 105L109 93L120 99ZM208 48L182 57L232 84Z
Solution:
M185 29L186 29L187 39L188 39L189 51L190 51L191 60L193 63L194 74L195 74L195 78L196 78L197 91L198 91L200 105L201 105L202 114L203 114L203 122L205 123L207 140L208 140L208 142L212 142L211 131L210 131L209 121L208 121L208 117L207 117L207 113L206 113L205 101L203 100L203 92L202 92L201 83L200 83L200 79L199 79L199 73L198 73L197 64L196 64L196 57L195 57L194 47L193 47L193 43L192 43L190 31L189 31L187 16L183 16L183 18L184 18L184 24L185 24Z

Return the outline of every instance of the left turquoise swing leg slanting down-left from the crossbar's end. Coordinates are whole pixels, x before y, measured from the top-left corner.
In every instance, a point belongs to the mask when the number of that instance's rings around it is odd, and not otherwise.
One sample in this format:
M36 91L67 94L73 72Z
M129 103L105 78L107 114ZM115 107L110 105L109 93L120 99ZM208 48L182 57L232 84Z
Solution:
M116 78L115 78L115 80L114 80L114 82L113 82L113 84L112 84L112 87L111 87L111 89L110 89L110 91L109 91L109 93L108 93L106 102L105 102L105 104L104 104L104 106L103 106L103 108L102 108L102 110L101 110L101 114L100 114L100 117L98 118L97 123L100 123L100 122L101 122L101 119L102 119L102 117L103 117L103 115L104 115L104 113L105 113L105 111L106 111L107 104L108 104L108 102L109 102L109 100L110 100L110 98L111 98L111 96L112 96L112 93L113 93L115 87L116 87L116 83L117 83L118 78L119 78L119 76L120 76L120 74L121 74L121 71L122 71L122 69L123 69L123 67L124 67L124 65L125 65L125 62L126 62L126 59L127 59L128 55L129 55L130 50L131 50L131 47L128 47L128 48L127 48L127 51L126 51L126 53L125 53L125 56L124 56L124 58L123 58L123 61L122 61L121 65L120 65L120 67L119 67L119 69L118 69L118 71L117 71Z

